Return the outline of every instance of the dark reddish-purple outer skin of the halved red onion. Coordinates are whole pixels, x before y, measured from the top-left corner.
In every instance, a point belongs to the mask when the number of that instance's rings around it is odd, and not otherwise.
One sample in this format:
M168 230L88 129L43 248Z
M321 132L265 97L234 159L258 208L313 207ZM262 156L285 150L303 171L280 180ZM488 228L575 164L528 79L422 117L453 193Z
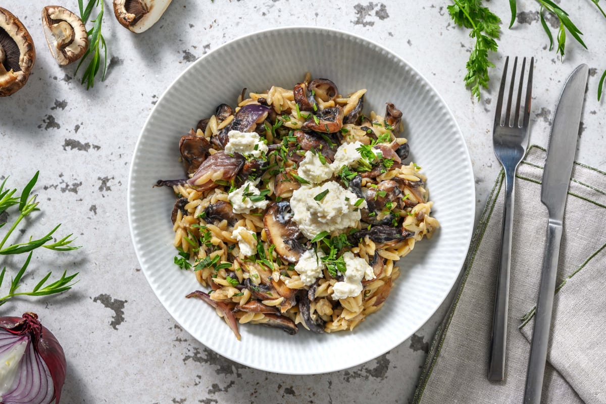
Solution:
M37 314L29 312L23 314L22 318L0 317L0 328L15 335L29 334L34 350L48 366L55 387L55 404L59 404L61 388L65 382L67 362L65 362L63 348L53 333L41 325Z

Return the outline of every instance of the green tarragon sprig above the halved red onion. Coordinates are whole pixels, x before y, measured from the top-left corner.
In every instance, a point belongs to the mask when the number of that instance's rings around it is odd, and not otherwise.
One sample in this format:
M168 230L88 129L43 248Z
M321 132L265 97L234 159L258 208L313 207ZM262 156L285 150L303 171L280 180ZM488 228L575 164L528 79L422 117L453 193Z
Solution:
M0 235L0 237L2 237L2 239L0 240L0 256L29 253L21 269L18 271L15 277L12 278L8 294L4 297L0 297L0 305L3 305L5 302L7 302L7 300L15 296L45 296L48 294L64 292L72 288L72 286L75 284L75 282L73 282L73 279L78 275L78 273L75 273L70 276L66 276L67 272L64 271L64 273L58 280L55 280L55 282L52 283L48 283L48 285L45 285L45 283L48 281L48 279L50 279L50 276L52 275L52 272L49 272L48 274L46 274L46 276L42 278L42 280L40 280L36 284L32 291L18 291L20 286L19 283L21 282L25 270L27 270L28 265L30 264L30 260L32 260L33 250L39 247L48 248L48 250L53 251L70 251L80 248L71 245L74 241L74 239L71 238L72 234L68 234L67 236L62 237L59 240L53 240L53 234L55 234L55 231L58 230L61 224L56 225L53 230L49 231L42 237L36 239L34 237L30 237L27 242L7 245L8 239L16 230L16 228L18 228L21 221L33 212L39 210L39 202L36 201L36 195L31 194L32 189L36 185L36 182L38 180L38 174L39 173L36 172L36 174L27 183L27 185L25 185L19 197L15 196L17 193L16 189L5 189L5 185L8 178L4 179L4 181L2 181L2 184L0 184L0 228L7 225L8 210L10 208L16 207L19 212L19 215L16 217L12 225L10 225L10 227L8 228L7 233L4 234L4 236ZM7 268L3 267L2 271L0 272L0 288L2 287L6 271Z

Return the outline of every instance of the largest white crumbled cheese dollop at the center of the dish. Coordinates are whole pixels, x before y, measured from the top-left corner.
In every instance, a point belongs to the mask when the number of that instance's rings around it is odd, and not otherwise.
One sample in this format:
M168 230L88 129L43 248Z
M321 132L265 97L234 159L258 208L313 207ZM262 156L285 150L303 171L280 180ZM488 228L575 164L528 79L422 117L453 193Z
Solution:
M322 200L314 199L326 190L328 193ZM317 186L303 185L293 191L290 207L293 220L301 232L308 239L313 239L322 231L356 227L361 217L360 209L366 207L365 200L356 207L358 199L355 193L341 187L337 182L328 181Z

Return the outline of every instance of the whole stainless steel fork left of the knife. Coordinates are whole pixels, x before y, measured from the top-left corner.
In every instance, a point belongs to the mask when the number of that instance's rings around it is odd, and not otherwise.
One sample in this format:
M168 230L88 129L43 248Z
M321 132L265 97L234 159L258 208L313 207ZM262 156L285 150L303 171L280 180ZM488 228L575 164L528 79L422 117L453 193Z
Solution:
M499 98L496 104L496 113L494 114L493 129L494 154L496 154L497 159L501 162L505 171L505 205L503 212L501 253L499 254L499 272L496 283L496 297L494 299L493 328L490 342L490 360L488 367L488 379L490 380L503 380L505 376L505 346L507 345L507 310L511 264L511 231L513 229L514 179L518 164L522 161L522 157L524 157L528 146L528 121L530 118L534 58L530 59L526 97L523 107L524 116L522 117L521 124L520 101L524 84L526 58L522 61L522 71L518 81L518 98L516 99L513 122L511 122L511 98L513 96L514 83L516 82L517 57L514 59L513 71L511 72L511 84L509 86L507 107L505 108L505 119L501 123L501 109L503 106L508 64L509 57L505 59L501 87L499 87Z

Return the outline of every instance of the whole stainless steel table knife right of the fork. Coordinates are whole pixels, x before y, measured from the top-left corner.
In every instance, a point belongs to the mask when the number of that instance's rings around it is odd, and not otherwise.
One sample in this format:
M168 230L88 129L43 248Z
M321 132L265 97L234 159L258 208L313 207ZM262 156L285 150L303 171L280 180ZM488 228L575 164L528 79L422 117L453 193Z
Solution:
M530 345L524 404L541 402L553 297L556 290L556 274L558 273L564 206L576 151L588 72L587 65L582 64L574 69L568 77L551 124L541 188L541 202L549 212L547 244L543 257L539 299L534 314L534 331Z

